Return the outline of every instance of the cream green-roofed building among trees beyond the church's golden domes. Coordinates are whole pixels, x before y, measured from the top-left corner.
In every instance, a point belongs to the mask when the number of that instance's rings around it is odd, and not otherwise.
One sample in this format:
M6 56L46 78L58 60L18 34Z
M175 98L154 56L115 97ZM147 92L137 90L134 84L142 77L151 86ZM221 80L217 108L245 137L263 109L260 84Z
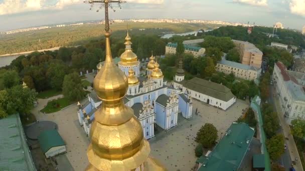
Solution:
M176 48L177 48L177 43L168 43L165 47L165 53L176 54ZM191 53L195 57L203 56L205 51L206 51L205 48L184 44L184 52Z

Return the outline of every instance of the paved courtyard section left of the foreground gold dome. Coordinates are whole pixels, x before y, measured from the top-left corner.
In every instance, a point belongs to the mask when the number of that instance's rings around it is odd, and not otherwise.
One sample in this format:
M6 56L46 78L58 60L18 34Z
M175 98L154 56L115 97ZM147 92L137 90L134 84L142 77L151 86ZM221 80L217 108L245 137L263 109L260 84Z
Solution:
M58 125L59 134L66 142L67 157L74 170L84 170L88 165L87 147L89 138L80 126L77 117L77 104L73 104L55 113L44 114L40 112L49 100L61 97L58 95L48 99L38 99L39 104L32 110L38 120L54 121ZM67 171L67 170L64 170Z

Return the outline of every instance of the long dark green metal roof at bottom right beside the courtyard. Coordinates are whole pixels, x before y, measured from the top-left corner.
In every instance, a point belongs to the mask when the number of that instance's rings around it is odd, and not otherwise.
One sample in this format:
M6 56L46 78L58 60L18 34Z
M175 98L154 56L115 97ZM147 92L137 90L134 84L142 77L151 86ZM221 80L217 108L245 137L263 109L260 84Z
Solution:
M203 160L199 170L237 170L253 135L254 129L248 124L233 122L213 151Z

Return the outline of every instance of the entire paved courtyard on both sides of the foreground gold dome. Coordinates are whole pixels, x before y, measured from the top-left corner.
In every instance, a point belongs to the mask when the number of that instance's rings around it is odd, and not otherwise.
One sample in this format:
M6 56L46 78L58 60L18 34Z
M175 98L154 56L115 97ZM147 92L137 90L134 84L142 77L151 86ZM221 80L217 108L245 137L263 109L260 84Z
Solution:
M58 131L66 142L67 153L64 155L67 156L74 170L84 170L88 165L86 152L90 141L78 122L77 104L55 113L40 112L39 110L52 98L39 99L38 106L32 112L38 120L57 123ZM230 124L241 116L242 109L247 107L245 101L237 99L236 103L224 111L193 100L193 112L195 113L197 108L199 114L193 114L191 119L185 119L180 115L176 127L168 131L160 131L154 138L149 139L150 155L158 158L169 170L191 170L197 160L194 152L197 142L194 139L199 128L205 123L213 123L218 129L220 138Z

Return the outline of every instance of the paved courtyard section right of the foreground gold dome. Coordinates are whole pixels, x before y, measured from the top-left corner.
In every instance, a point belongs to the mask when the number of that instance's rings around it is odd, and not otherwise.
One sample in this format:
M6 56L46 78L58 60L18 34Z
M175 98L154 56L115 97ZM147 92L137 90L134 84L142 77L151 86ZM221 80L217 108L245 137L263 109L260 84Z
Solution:
M217 108L193 100L194 112L198 108L200 114L193 114L191 119L180 116L176 127L149 139L150 154L158 158L169 170L192 170L197 160L195 137L200 127L205 123L213 123L220 138L221 132L224 133L231 123L241 116L242 109L248 106L245 101L237 99L226 111L218 109L217 113Z

